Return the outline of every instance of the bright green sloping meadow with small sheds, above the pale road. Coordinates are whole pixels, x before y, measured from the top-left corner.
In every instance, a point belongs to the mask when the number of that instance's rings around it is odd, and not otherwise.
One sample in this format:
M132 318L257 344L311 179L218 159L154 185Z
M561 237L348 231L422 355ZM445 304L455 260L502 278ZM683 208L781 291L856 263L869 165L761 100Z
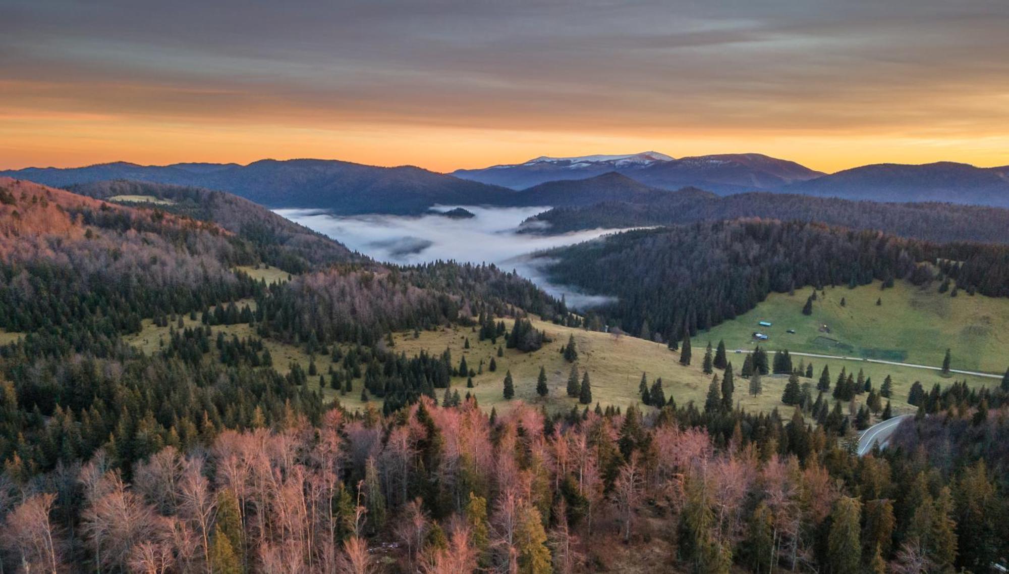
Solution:
M698 333L693 345L697 349L724 340L730 350L753 349L752 336L759 330L770 336L761 344L768 350L938 367L950 349L955 369L1004 373L1009 366L1009 299L972 297L964 291L950 297L936 288L932 284L920 289L903 281L886 290L880 290L879 282L855 289L827 287L825 294L817 293L811 315L802 314L811 288L791 296L773 293L750 312ZM882 304L877 305L877 299ZM761 320L774 324L760 326ZM931 379L937 373L922 371L920 376Z

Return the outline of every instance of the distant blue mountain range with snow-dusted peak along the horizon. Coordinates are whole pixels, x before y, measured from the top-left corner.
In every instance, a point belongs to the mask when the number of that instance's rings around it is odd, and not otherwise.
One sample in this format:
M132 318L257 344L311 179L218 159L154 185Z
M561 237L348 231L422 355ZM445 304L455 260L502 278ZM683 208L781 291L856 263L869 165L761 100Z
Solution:
M414 166L376 167L336 160L260 160L248 165L125 162L83 168L26 168L0 176L67 187L110 180L199 186L271 208L338 214L421 214L432 205L590 205L637 201L643 193L696 187L718 195L751 191L889 202L940 201L1009 207L1009 166L938 162L878 164L823 174L761 154L674 159L656 152L576 158L441 174Z

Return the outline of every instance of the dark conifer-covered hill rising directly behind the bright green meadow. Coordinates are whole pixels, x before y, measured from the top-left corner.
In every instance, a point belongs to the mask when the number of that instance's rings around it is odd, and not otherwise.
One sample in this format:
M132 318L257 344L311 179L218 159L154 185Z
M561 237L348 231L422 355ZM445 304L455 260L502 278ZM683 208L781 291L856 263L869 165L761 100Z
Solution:
M768 293L812 285L932 281L921 263L968 293L1009 296L1009 248L932 244L821 223L739 219L642 229L552 250L559 284L615 302L602 320L645 339L679 341L752 309ZM949 264L948 261L956 264Z

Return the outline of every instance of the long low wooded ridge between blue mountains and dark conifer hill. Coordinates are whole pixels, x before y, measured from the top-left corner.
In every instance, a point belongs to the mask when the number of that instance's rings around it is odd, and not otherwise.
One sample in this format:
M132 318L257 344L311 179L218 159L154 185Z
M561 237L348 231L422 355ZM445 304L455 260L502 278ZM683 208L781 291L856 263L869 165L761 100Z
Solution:
M555 207L532 217L527 232L673 225L738 217L820 221L932 242L1009 243L1009 209L950 203L881 203L784 193L718 196L694 188L586 206Z

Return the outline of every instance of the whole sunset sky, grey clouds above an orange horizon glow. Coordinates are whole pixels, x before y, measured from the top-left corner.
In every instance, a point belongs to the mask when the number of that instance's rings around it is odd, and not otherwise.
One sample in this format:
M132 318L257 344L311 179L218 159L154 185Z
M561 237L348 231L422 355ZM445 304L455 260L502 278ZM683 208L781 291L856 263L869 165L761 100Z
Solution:
M1006 0L0 0L0 169L1009 165Z

